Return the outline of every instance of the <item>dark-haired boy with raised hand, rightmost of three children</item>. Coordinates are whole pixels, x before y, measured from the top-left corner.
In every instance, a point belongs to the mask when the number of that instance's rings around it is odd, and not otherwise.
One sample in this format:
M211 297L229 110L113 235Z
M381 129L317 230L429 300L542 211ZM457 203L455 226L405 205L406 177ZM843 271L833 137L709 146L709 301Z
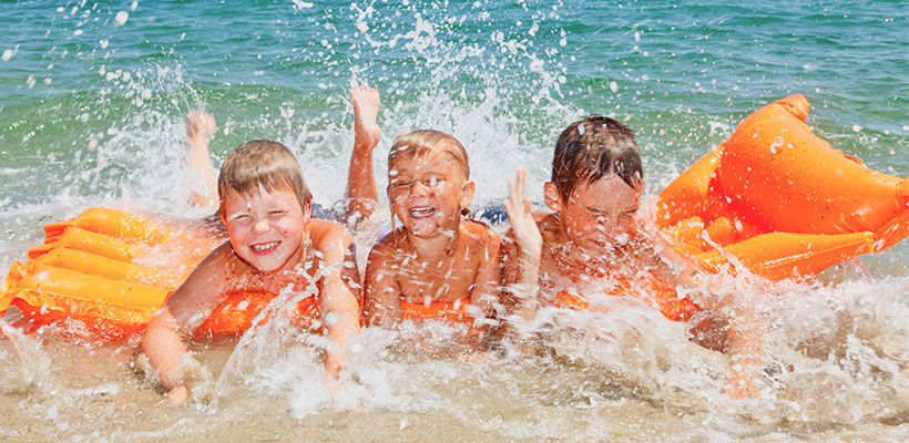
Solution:
M634 134L622 123L594 115L562 132L552 182L544 185L545 203L553 214L539 222L523 197L525 178L527 173L519 171L517 179L509 181L510 198L504 205L512 229L502 247L503 282L512 296L509 305L523 321L534 318L543 300L585 306L582 297L571 293L614 291L604 287L606 280L627 292L642 271L672 286L680 281L693 286L695 270L685 267L672 248L657 250L635 227L643 169ZM677 297L656 299L653 305L674 320L687 320L698 309ZM738 308L735 316L748 313ZM727 348L742 368L758 364L756 327L737 320L725 329L725 337L717 337L723 333L721 328L696 334L706 333L702 344ZM734 396L754 393L747 370L734 370L731 383Z

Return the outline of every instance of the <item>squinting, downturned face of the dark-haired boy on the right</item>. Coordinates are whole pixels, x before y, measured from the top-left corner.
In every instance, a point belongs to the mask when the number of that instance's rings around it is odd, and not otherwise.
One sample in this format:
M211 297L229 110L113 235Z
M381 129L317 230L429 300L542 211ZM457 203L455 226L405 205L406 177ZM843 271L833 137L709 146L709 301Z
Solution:
M610 176L581 183L565 202L555 185L547 183L547 205L559 214L565 235L588 253L612 250L631 227L641 189L621 177Z

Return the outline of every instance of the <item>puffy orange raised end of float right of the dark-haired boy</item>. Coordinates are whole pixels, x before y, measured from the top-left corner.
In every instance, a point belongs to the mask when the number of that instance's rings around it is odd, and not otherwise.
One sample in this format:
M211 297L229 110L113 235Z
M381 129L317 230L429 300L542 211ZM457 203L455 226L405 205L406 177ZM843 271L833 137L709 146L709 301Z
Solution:
M793 95L745 119L658 196L656 225L706 270L807 278L909 234L909 179L865 167Z

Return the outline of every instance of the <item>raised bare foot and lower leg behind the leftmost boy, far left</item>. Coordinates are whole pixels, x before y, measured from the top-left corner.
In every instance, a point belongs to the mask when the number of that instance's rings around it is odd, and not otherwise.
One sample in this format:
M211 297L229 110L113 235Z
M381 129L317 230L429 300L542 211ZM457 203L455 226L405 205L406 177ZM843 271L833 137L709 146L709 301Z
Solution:
M208 153L208 138L216 130L217 124L215 124L214 115L205 111L190 111L186 115L186 135L190 137L190 167L203 185L202 193L191 190L191 202L195 206L217 205L217 172Z

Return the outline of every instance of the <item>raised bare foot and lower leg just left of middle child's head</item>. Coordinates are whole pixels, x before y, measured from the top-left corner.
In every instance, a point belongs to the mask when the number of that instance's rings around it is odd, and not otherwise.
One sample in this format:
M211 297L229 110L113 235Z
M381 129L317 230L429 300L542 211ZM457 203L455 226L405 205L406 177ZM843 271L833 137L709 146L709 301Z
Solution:
M372 150L379 144L381 128L376 123L379 92L359 86L350 92L354 102L354 152L347 169L348 219L368 219L378 206L379 195L372 172Z

